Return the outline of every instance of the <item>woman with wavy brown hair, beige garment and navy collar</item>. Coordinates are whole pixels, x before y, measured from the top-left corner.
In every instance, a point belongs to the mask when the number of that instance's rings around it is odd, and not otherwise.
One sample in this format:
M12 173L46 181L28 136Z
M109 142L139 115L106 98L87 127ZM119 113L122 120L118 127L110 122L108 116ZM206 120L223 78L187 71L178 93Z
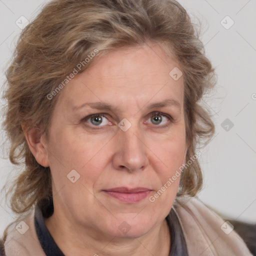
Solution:
M214 70L173 0L54 0L6 72L11 255L251 255L195 197Z

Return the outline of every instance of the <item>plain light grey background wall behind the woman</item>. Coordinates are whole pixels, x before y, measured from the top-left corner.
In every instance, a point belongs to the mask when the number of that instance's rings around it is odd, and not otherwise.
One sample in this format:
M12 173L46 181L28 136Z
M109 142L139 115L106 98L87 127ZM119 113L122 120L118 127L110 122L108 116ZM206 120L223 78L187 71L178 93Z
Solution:
M38 13L43 0L0 0L0 82L21 29L15 21ZM256 1L180 0L193 19L202 21L201 39L216 67L218 81L204 101L216 133L201 150L203 190L198 197L225 216L256 221ZM226 17L226 16L229 17ZM221 22L222 20L222 22ZM233 20L233 21L232 21ZM232 22L234 24L228 28ZM2 91L2 90L1 90ZM254 93L254 94L253 94ZM0 101L0 105L2 105ZM0 122L1 122L0 115ZM228 118L230 124L221 123ZM228 125L228 126L226 126ZM228 129L228 130L225 130ZM5 140L0 130L0 144ZM2 148L1 148L2 152ZM2 156L2 155L1 155ZM18 169L0 158L0 188ZM12 173L12 174L11 174ZM11 176L10 176L11 175ZM14 215L0 195L0 233Z

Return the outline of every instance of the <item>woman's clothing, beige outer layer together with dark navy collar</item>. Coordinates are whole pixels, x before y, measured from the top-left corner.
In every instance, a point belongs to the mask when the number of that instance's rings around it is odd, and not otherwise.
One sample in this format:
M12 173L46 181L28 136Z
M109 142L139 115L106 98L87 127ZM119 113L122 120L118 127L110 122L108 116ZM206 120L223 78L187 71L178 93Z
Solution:
M194 197L176 199L165 219L171 235L169 256L252 255L238 234ZM29 227L24 234L15 228L19 221L8 228L4 242L6 256L64 255L48 232L38 205L23 217Z

